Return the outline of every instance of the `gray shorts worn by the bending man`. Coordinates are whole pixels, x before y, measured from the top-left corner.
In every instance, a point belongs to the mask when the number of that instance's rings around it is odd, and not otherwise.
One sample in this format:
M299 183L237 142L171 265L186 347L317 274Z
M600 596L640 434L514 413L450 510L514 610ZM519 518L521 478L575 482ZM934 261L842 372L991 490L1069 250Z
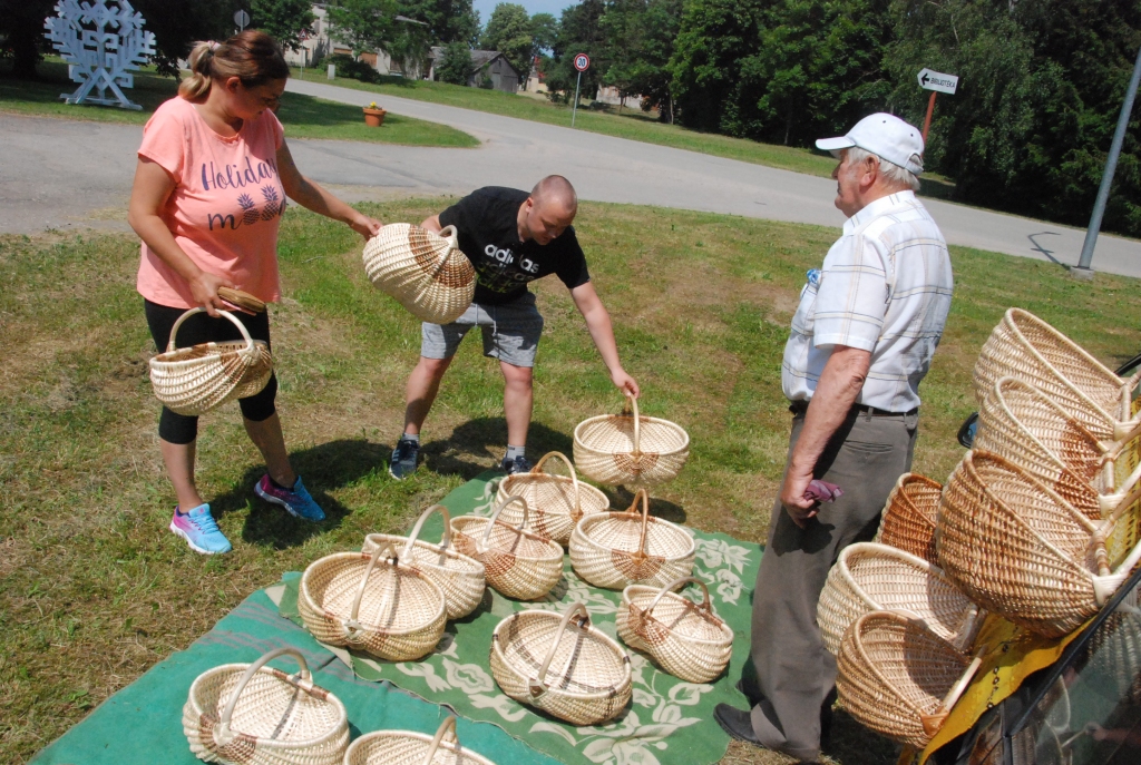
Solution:
M503 306L471 303L463 316L451 324L429 324L420 328L420 355L429 359L450 359L471 327L484 334L484 356L517 367L535 366L543 317L535 308L535 295L526 293Z

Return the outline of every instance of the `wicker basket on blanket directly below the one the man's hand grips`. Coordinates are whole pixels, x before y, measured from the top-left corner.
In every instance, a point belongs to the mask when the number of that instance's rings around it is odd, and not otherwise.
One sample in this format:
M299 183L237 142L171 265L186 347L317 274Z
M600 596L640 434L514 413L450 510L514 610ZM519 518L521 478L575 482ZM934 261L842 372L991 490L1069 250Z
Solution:
M646 489L638 489L625 512L578 521L570 535L570 565L596 587L662 587L693 573L695 550L688 531L649 514Z

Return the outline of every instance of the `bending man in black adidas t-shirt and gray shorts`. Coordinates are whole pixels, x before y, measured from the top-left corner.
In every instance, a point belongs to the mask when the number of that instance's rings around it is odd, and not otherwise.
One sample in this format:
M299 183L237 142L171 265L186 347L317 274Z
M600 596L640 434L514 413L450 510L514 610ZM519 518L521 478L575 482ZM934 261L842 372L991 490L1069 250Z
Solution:
M440 380L460 341L471 327L483 331L484 356L497 358L503 371L503 410L508 448L502 467L508 473L531 469L526 458L531 425L532 367L543 331L543 317L527 284L555 274L586 320L594 345L622 391L638 396L638 383L618 361L610 315L590 283L586 258L570 222L578 209L574 188L561 176L548 176L531 194L487 187L432 215L423 227L434 231L455 226L460 250L476 268L471 308L447 325L423 324L420 363L408 377L404 434L393 451L389 472L400 479L416 469L420 428L431 409Z

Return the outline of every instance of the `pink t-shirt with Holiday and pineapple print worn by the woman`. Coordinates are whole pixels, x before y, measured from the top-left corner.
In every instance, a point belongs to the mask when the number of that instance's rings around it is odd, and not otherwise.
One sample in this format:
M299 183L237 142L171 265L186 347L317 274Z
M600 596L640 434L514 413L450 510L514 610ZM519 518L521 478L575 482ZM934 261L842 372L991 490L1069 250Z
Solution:
M171 98L143 128L140 157L175 179L162 220L199 268L266 302L281 298L277 227L285 189L277 174L284 131L269 109L233 138L215 132L184 98ZM191 286L143 243L138 291L160 306L193 308Z

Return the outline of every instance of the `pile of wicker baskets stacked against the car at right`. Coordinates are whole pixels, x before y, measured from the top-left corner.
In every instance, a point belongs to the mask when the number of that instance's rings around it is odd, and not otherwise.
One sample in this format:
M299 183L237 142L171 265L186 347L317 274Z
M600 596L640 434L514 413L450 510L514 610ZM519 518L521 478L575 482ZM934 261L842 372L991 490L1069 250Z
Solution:
M989 648L986 613L1060 637L1141 561L1141 437L1133 389L1027 311L1011 309L974 367L979 425L946 486L903 475L872 543L845 548L817 621L841 705L924 748Z

